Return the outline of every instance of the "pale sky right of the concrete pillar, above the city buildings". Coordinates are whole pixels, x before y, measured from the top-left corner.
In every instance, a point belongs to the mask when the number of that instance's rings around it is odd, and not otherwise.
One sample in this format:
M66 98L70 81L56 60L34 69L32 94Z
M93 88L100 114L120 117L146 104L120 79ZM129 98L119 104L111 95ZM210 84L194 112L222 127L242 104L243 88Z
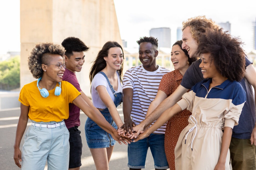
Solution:
M216 23L231 23L231 35L240 36L250 52L253 48L253 24L256 21L256 1L228 0L114 0L121 38L127 47L138 47L136 41L149 36L151 28L169 27L171 44L176 41L177 27L188 18L205 15Z

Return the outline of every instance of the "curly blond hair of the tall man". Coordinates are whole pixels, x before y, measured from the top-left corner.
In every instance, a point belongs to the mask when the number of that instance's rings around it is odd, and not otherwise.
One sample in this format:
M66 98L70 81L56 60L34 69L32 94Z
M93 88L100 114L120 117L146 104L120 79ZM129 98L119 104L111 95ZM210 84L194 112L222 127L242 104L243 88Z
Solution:
M187 21L182 22L182 25L182 31L186 27L190 27L192 37L196 39L197 43L199 43L200 34L204 33L206 29L220 29L220 27L215 24L215 22L212 21L211 18L207 19L205 16L189 18Z

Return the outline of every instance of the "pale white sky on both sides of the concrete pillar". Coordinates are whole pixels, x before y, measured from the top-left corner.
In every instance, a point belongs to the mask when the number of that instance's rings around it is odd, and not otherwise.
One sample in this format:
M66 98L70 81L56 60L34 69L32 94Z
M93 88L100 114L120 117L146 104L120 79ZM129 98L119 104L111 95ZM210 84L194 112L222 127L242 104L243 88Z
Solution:
M231 23L231 34L240 36L253 48L253 24L256 20L256 1L203 0L114 0L121 38L128 47L138 47L136 41L149 36L151 28L169 27L171 44L176 41L177 27L188 18L205 15L216 23ZM0 55L20 51L20 0L0 1Z

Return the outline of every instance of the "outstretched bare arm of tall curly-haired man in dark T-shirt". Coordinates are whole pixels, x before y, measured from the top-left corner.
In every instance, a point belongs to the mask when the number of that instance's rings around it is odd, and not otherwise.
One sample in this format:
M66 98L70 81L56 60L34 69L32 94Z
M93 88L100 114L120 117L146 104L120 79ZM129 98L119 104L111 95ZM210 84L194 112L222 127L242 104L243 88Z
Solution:
M172 95L167 97L164 101L162 101L157 108L146 117L140 124L135 126L133 128L134 131L136 131L136 136L140 134L140 132L143 132L145 127L150 126L152 122L158 119L158 117L168 108L172 107L175 103L179 101L179 99L182 98L182 95L185 94L188 91L185 87L182 85L179 85L178 88L173 92ZM169 120L169 119L168 119ZM167 121L168 121L167 120ZM166 121L166 122L167 122Z

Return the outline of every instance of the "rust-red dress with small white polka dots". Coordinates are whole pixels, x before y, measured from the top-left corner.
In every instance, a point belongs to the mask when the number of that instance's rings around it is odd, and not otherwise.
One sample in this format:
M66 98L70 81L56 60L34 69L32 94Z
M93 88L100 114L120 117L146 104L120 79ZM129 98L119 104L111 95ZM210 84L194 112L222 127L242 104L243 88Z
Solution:
M179 70L165 74L159 84L158 90L163 91L167 97L170 96L180 85L183 76ZM183 110L174 115L166 125L164 148L170 170L175 169L174 148L177 144L181 131L188 125L188 118L191 112Z

